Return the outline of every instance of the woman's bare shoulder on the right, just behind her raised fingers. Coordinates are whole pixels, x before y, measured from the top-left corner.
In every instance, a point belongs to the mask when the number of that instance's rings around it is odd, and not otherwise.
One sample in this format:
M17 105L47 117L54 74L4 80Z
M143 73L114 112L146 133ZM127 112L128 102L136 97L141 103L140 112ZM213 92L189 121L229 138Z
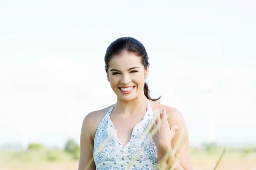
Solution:
M163 105L153 101L151 101L151 107L154 113L161 113L163 109L166 109L166 114L168 116L168 123L170 126L174 126L174 125L177 125L179 127L186 126L183 115L177 108L173 108L171 106Z

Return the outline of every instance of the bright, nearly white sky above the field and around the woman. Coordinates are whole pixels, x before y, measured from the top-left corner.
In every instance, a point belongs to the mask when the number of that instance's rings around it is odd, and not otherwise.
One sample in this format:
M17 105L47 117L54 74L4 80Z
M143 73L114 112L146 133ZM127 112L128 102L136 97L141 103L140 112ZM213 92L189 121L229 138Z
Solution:
M192 145L208 141L208 113L217 143L255 143L255 5L1 0L0 145L79 143L84 117L116 102L104 55L126 36L145 46L151 94L181 111Z

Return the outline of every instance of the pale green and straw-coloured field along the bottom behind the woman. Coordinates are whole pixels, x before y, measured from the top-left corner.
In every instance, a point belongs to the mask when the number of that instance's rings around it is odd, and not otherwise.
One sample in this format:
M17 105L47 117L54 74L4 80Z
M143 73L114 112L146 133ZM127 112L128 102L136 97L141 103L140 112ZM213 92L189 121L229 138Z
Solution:
M194 170L213 170L223 148L192 148ZM76 170L79 154L59 149L0 151L0 170ZM256 170L253 148L230 148L221 159L217 170Z

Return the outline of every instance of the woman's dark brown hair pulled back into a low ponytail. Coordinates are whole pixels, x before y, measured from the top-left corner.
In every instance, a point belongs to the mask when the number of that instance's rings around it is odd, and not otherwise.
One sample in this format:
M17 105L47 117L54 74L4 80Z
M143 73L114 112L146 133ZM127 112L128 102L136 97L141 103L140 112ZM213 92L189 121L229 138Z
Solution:
M141 57L142 64L144 65L144 68L147 69L149 63L148 63L148 54L144 47L144 45L132 37L121 37L113 41L107 48L106 54L105 54L105 68L106 72L108 73L108 67L109 62L111 58L116 54L121 54L123 51L132 53L138 57ZM144 94L147 97L147 99L150 99L152 101L159 100L162 96L160 96L157 99L152 99L150 97L150 91L148 88L148 83L145 82L144 84Z

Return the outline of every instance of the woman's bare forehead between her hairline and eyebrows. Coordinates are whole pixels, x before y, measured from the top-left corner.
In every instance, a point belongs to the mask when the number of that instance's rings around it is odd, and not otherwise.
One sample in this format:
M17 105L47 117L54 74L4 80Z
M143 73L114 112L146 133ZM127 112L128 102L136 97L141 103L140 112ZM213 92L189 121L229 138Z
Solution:
M109 62L109 68L128 69L132 67L142 67L141 57L131 53L122 53L112 57Z

